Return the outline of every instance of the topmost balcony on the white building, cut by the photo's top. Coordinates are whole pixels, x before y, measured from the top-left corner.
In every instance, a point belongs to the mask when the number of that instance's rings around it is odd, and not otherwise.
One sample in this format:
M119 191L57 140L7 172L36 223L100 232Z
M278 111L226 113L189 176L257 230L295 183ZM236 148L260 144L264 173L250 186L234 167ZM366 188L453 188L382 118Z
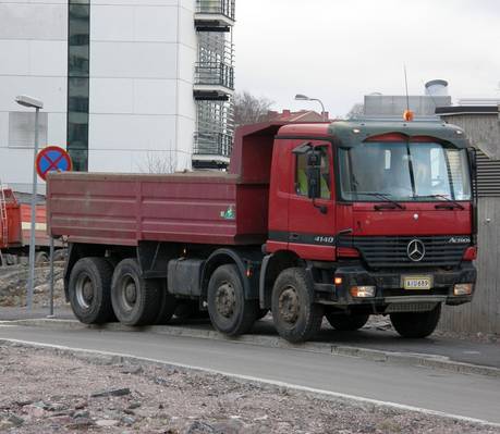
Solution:
M230 32L234 25L235 0L196 0L197 32Z

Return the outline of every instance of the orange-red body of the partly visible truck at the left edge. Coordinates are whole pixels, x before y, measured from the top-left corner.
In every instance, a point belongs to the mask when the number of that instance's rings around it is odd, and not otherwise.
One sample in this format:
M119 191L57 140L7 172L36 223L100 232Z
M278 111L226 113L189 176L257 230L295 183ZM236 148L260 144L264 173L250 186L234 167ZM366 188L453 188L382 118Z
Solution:
M7 211L7 231L0 219L0 249L20 248L29 245L32 207L20 203L11 189L3 191ZM0 199L1 200L1 199ZM1 203L0 203L1 206ZM47 212L45 204L36 207L35 237L37 246L48 246Z

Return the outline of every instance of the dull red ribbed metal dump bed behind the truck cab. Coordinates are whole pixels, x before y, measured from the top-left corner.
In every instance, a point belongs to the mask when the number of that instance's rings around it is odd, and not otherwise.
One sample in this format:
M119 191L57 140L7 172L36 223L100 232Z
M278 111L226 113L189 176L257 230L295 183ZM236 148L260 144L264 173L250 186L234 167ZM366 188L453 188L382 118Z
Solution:
M248 245L267 236L268 184L221 172L58 173L47 199L50 233L70 243Z

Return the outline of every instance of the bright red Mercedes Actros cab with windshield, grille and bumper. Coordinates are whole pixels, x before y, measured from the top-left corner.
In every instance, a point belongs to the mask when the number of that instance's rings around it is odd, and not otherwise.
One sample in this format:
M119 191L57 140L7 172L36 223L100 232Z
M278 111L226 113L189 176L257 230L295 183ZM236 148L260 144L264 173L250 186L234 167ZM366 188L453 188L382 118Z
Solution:
M357 328L382 313L405 336L429 334L441 303L471 301L476 281L467 146L462 129L442 122L281 127L267 260L305 263L332 325ZM284 298L283 309L298 311L296 297Z

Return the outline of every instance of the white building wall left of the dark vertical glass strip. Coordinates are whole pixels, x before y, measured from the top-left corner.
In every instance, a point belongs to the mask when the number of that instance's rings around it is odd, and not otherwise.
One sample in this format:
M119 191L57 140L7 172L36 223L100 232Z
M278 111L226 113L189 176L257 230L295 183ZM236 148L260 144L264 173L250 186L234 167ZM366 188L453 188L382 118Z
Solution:
M66 34L65 0L0 1L0 179L21 191L32 189L33 145L10 142L9 119L11 112L33 110L16 104L14 98L26 94L41 99L48 131L47 142L40 145L64 147Z

